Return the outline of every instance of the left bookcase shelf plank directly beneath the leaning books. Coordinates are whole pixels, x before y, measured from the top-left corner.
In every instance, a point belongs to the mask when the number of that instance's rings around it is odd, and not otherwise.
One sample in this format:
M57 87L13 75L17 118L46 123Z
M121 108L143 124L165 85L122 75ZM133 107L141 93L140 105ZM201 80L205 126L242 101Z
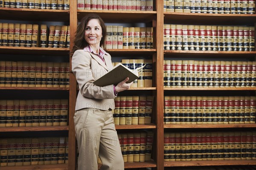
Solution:
M33 55L66 55L69 56L69 48L41 48L41 47L3 47L0 46L0 54L33 54Z

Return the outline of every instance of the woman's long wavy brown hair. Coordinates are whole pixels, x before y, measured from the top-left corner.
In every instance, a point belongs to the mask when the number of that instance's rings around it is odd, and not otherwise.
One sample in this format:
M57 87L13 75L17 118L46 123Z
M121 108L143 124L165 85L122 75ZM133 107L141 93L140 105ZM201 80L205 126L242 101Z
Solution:
M97 14L87 14L85 17L83 17L83 19L81 20L81 23L77 26L75 40L74 40L74 46L71 51L71 54L74 54L74 52L76 50L84 49L84 47L86 47L88 45L87 41L84 39L84 31L87 26L87 23L92 19L99 20L99 25L102 28L102 39L100 40L99 46L102 47L104 50L106 50L105 38L107 35L107 31L106 31L106 26L105 26L104 21Z

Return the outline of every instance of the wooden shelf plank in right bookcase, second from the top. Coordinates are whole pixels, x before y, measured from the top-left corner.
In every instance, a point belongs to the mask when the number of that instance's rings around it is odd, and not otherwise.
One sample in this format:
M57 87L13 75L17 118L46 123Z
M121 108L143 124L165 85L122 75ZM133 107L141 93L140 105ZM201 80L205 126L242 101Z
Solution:
M188 57L205 58L216 57L255 57L256 51L183 51L183 50L164 50L165 57Z

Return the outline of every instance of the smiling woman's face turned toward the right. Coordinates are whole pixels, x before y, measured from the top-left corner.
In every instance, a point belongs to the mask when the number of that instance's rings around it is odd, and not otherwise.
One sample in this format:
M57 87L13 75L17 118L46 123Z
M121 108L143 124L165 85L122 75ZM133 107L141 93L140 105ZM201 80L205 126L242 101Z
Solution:
M84 39L89 45L99 45L102 38L102 28L99 24L99 20L91 19L87 23L84 31Z

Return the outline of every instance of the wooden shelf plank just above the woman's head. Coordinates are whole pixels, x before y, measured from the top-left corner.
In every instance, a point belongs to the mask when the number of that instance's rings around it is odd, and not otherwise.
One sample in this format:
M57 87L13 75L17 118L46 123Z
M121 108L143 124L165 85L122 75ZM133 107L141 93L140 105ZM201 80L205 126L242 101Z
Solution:
M98 14L105 23L148 23L157 16L157 11L98 11L98 10L77 10L77 18L80 21L89 13ZM140 16L140 17L138 17Z

